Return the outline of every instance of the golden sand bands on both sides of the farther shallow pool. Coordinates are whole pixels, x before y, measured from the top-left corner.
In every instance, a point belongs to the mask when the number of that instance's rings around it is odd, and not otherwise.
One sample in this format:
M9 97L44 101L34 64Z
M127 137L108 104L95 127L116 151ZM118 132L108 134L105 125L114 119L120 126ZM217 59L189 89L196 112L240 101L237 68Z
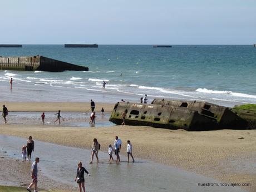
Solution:
M62 110L81 110L81 104L6 104L10 111L18 109L44 111L63 107ZM83 104L84 105L84 104ZM88 104L87 104L88 105ZM15 107L16 106L16 107ZM28 106L28 107L27 107ZM68 106L71 106L70 109ZM99 106L99 105L98 105ZM112 108L111 104L105 105ZM35 107L35 108L34 108ZM99 110L99 109L98 109ZM54 111L54 110L53 110ZM107 111L107 110L106 110ZM131 140L134 156L198 173L228 183L250 183L244 187L256 190L254 159L256 157L256 130L218 130L188 132L184 130L155 129L146 126L110 126L95 128L58 127L52 125L0 126L0 134L28 137L65 146L90 149L93 138L107 151L118 135L123 143ZM121 160L126 160L125 147Z

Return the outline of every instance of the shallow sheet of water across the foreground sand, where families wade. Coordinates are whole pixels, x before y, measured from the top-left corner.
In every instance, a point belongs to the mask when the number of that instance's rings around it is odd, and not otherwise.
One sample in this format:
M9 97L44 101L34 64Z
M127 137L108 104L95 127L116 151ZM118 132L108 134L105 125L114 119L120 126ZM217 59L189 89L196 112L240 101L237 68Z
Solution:
M75 139L75 138L74 138ZM0 135L1 151L7 155L21 159L20 148L26 144L26 139ZM124 148L122 148L124 150ZM16 154L16 155L14 155ZM127 163L121 155L121 163L109 163L109 155L99 152L99 164L88 164L90 150L66 147L35 140L35 156L40 157L38 168L42 173L56 182L77 186L74 179L78 161L90 172L86 176L87 191L245 191L234 187L201 187L198 183L221 183L211 178L189 173L172 166L136 159L135 163ZM40 175L38 175L40 179ZM39 183L40 184L40 183Z

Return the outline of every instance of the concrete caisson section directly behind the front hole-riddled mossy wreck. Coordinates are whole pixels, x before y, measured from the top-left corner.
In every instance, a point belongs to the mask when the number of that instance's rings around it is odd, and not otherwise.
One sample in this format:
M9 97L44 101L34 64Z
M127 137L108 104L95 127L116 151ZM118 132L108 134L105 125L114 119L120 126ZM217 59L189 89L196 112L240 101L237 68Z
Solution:
M218 123L219 129L244 129L247 127L247 122L228 107L209 102L155 99L151 104L168 105L198 111L201 115L214 118Z

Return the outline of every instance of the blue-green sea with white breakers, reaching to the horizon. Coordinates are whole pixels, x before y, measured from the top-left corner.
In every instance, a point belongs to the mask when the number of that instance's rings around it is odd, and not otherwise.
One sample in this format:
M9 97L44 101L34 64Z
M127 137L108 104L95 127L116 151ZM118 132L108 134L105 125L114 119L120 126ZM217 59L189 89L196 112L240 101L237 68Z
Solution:
M42 55L89 71L0 71L0 101L139 102L154 98L256 104L256 48L252 45L23 45L0 56ZM13 78L13 88L9 80ZM102 82L106 81L106 88Z

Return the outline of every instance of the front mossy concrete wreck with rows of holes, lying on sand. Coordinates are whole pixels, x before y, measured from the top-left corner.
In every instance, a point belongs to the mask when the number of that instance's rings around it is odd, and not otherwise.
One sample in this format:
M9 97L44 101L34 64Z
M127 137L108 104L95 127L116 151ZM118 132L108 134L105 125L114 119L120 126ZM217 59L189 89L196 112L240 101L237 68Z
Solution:
M165 129L185 129L188 131L217 129L216 120L212 117L200 115L197 111L183 107L155 104L136 104L118 102L110 121L121 125L122 113L127 110L127 125L145 125Z

